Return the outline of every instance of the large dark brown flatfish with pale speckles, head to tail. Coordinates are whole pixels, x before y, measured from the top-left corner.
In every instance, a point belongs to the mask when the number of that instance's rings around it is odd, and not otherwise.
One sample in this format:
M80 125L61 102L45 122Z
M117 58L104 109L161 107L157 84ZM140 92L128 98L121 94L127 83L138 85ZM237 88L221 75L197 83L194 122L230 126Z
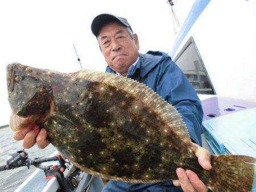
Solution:
M224 158L212 156L213 169L201 168L179 113L139 82L108 73L64 74L14 63L7 66L7 87L13 112L32 116L58 151L87 173L150 183L177 179L175 170L182 167L216 191L225 185L221 178L228 180L221 166ZM252 157L241 159L255 163ZM233 183L234 189L249 190L250 177L246 182Z

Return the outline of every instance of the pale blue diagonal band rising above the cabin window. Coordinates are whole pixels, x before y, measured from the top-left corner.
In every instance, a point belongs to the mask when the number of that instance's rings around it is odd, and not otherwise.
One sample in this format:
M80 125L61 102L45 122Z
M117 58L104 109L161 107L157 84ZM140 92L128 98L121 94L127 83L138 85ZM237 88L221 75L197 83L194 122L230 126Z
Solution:
M204 11L205 7L208 5L210 0L196 0L193 4L191 10L188 13L187 18L185 19L183 26L180 28L179 33L176 36L174 46L172 47L172 51L170 53L171 58L174 58L177 49L179 48L181 42L188 34L188 31L191 29L193 24L196 22L196 19L199 17L201 12Z

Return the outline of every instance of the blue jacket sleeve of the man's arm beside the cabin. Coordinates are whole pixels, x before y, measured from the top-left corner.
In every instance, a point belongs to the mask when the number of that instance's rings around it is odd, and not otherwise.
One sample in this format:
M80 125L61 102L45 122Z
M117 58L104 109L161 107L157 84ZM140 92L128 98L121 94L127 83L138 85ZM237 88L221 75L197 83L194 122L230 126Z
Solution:
M156 92L179 111L192 141L201 146L203 109L200 99L187 77L170 57L164 59L159 66Z

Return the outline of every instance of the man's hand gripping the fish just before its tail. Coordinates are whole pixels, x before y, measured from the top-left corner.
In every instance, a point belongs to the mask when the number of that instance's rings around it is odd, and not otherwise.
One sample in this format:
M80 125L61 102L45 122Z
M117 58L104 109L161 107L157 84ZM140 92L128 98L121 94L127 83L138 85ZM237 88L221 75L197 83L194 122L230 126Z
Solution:
M212 165L210 165L210 153L207 149L201 148L199 145L192 143L193 150L195 151L196 156L198 157L199 164L202 168L210 170ZM207 186L197 177L196 173L191 170L184 170L182 168L176 169L177 177L179 180L173 180L175 186L181 186L184 192L199 191L206 192L208 191Z

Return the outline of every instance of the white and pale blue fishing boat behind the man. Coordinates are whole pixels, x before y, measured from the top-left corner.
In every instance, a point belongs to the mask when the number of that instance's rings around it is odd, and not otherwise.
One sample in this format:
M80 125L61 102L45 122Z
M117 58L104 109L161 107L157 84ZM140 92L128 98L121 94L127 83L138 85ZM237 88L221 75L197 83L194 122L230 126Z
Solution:
M181 25L169 2L177 30L168 54L201 100L203 147L212 154L256 157L256 2L196 0ZM84 173L75 191L103 186L100 178ZM15 191L59 187L55 177L46 180L36 170Z

